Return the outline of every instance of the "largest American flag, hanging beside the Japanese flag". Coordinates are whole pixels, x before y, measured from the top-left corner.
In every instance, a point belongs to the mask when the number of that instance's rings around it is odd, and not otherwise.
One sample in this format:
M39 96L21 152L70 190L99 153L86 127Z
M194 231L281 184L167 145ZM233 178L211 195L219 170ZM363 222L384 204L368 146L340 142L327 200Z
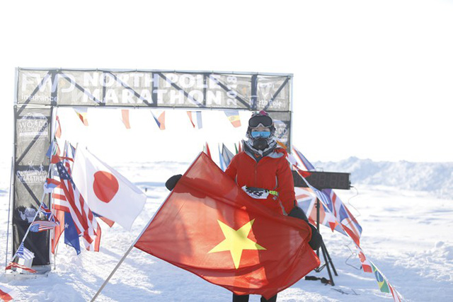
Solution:
M65 149L72 152L69 148ZM59 161L55 165L57 166L58 175L62 184L61 189L65 199L59 200L58 208L63 210L69 209L77 231L84 240L86 249L98 251L101 240L101 227L98 226L98 222L89 209L88 204L84 201L84 197L81 196L79 190L77 190L74 185L74 182L72 181L67 168L65 168L64 163ZM96 236L96 238L93 240L94 236Z

